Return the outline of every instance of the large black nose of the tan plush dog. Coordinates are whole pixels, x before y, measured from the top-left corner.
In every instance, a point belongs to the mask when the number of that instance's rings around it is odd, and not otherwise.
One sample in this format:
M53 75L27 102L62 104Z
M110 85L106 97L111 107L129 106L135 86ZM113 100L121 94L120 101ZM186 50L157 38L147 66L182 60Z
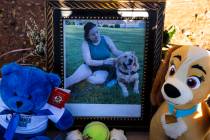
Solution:
M164 91L166 95L170 98L177 98L181 95L179 90L171 84L165 84Z

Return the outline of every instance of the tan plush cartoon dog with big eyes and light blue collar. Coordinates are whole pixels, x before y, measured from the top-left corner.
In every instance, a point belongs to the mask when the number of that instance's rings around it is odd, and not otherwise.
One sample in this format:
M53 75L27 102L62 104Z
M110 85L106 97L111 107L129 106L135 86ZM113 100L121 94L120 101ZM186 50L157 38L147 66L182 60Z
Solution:
M150 124L150 140L209 139L210 53L196 46L175 46L159 68L153 104L165 99ZM162 95L160 93L162 92Z

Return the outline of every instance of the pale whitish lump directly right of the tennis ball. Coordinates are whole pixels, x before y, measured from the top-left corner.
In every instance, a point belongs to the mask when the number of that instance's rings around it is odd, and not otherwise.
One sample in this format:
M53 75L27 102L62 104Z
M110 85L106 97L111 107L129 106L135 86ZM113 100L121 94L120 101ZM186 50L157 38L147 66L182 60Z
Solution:
M123 130L113 129L111 131L110 140L127 140Z

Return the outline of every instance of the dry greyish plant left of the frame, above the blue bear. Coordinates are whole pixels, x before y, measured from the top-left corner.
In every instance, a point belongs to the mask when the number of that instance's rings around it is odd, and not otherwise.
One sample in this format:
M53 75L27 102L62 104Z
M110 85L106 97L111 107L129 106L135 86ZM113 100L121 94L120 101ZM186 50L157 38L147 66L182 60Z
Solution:
M0 10L1 16L1 10ZM0 60L3 60L9 55L22 54L20 58L15 61L24 65L39 65L45 62L46 56L46 30L45 28L38 28L34 19L30 18L25 21L26 37L30 41L31 47L18 48L0 54ZM28 44L29 45L29 44ZM35 60L35 61L34 61ZM38 61L37 61L38 60ZM13 60L14 61L14 60ZM28 64L27 64L28 63Z

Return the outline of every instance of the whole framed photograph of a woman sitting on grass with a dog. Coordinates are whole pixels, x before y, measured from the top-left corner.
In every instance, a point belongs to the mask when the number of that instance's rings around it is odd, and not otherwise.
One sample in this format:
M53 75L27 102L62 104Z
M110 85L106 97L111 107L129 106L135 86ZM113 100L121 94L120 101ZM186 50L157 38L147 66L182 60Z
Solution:
M47 0L47 70L71 90L75 126L149 128L164 2Z

